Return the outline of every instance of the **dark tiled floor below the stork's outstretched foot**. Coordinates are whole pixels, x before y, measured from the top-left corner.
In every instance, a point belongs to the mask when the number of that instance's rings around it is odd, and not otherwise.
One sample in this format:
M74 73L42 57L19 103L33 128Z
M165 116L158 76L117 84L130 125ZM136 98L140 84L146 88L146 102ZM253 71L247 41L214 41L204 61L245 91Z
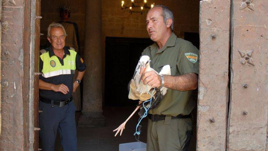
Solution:
M136 142L134 137L136 124L138 123L138 113L127 122L122 136L116 137L114 129L122 124L133 112L136 106L131 107L105 107L103 114L105 117L104 127L77 127L77 143L79 151L118 151L119 144ZM80 112L76 113L76 119L79 119ZM146 143L147 118L141 122L141 134L139 139ZM62 151L59 136L56 140L56 151Z

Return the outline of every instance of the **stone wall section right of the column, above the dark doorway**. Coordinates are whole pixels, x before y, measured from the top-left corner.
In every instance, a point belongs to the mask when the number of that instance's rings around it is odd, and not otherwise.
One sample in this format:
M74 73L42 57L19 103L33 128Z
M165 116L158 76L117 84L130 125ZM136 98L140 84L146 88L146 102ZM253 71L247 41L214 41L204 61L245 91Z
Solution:
M174 32L183 38L184 32L199 32L199 1L197 0L147 0L148 4L166 5L174 13ZM129 5L130 0L125 0ZM149 38L146 31L146 13L122 12L121 1L103 0L102 33L110 37Z

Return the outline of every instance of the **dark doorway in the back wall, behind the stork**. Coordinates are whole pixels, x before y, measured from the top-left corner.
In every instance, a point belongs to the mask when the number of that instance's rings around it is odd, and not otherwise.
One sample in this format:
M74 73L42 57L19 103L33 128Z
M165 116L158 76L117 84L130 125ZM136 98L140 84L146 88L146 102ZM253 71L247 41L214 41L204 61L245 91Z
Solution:
M150 38L106 37L104 106L134 106L128 99L128 83Z

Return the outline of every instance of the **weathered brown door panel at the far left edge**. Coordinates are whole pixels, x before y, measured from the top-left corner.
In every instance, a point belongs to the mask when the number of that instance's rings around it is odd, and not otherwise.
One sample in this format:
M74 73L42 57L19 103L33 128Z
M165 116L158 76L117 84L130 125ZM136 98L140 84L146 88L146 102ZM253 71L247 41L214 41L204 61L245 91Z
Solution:
M23 150L23 14L23 1L2 1L0 150Z

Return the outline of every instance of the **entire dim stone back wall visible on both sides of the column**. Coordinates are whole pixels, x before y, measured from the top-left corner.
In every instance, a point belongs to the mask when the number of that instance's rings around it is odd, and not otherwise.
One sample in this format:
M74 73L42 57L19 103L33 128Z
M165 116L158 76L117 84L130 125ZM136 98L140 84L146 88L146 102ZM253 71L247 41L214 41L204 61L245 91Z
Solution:
M60 21L59 6L69 5L71 8L71 17L69 21L78 25L81 52L84 50L85 33L85 2L86 0L65 0L54 1L46 0L41 2L41 36L40 45L48 43L47 27L52 22ZM175 24L174 32L177 36L183 38L184 32L199 32L199 1L197 0L148 0L148 4L155 3L168 6L174 13ZM130 0L125 0L125 4L130 4ZM149 38L146 31L146 13L129 14L122 12L120 0L102 0L102 35L103 46L105 46L105 37L133 37ZM103 51L105 47L103 47Z

